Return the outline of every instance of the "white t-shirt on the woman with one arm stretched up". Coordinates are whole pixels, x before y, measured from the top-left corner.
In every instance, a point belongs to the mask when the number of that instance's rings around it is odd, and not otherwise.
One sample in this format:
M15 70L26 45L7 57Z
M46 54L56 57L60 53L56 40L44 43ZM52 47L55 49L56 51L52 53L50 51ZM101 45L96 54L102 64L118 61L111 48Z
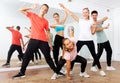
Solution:
M92 24L93 24L92 20L79 19L78 40L80 41L93 40L91 33Z

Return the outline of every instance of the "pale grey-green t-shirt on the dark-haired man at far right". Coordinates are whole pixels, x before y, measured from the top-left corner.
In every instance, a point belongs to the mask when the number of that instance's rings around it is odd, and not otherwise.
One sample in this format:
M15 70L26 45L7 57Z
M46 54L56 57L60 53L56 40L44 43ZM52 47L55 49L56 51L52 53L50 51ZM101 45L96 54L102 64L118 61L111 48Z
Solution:
M97 25L97 28L101 28L102 24L103 23ZM97 43L104 43L104 42L108 41L104 30L96 32L96 36L97 36Z

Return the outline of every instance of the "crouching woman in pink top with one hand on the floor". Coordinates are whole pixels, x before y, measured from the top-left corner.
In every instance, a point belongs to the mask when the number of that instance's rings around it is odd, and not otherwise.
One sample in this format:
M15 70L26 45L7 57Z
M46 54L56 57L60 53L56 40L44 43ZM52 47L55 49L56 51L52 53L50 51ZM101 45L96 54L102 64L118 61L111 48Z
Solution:
M75 62L81 63L81 73L80 76L89 77L89 75L85 72L87 60L79 55L77 55L77 47L76 41L73 38L74 36L74 29L73 27L69 27L70 29L70 38L63 39L63 54L58 62L58 71L62 68L62 66L66 63L66 70L67 70L67 79L71 79L70 70L71 64Z

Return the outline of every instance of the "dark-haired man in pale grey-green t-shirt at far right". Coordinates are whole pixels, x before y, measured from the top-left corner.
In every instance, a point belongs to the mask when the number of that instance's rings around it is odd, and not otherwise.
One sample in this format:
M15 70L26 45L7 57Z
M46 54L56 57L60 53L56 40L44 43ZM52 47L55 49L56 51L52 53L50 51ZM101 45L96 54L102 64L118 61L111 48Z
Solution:
M110 45L110 42L109 40L107 39L107 36L104 32L104 29L108 29L109 27L109 24L105 27L102 27L102 24L105 20L107 20L108 18L107 17L104 17L103 19L101 20L97 20L97 17L98 17L98 12L96 10L92 11L91 12L91 16L93 18L93 21L95 23L97 23L97 28L96 28L96 36L97 36L97 57L98 59L100 59L102 53L103 53L103 50L105 49L106 51L106 58L107 58L107 67L106 67L106 70L115 70L114 67L111 66L111 58L112 58L112 48L111 48L111 45ZM91 70L92 71L97 71L97 69L95 68L95 65L96 63L93 62L93 65L92 65L92 68Z

